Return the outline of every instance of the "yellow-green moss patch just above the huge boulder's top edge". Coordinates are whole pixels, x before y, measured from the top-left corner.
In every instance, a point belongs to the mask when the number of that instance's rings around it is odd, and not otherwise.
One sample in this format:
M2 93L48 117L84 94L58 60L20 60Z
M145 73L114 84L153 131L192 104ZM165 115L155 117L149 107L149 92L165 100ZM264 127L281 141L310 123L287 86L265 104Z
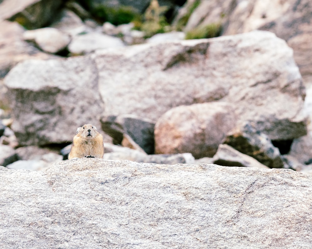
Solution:
M185 39L203 39L217 37L221 34L222 25L220 23L211 23L205 26L198 26L197 28L188 31Z

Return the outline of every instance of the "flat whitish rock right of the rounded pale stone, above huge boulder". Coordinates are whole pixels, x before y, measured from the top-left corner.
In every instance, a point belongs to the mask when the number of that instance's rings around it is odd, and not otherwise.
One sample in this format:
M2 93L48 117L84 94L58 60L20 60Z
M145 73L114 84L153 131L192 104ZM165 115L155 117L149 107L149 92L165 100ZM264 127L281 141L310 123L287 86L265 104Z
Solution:
M68 45L68 50L73 55L88 54L97 49L123 47L123 42L110 35L96 32L76 35Z

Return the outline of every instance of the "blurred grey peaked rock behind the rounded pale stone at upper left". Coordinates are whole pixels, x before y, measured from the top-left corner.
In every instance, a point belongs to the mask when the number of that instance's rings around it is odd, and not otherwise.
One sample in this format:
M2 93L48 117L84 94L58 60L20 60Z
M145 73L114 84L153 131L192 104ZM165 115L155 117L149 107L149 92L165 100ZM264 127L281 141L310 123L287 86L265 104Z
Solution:
M87 31L87 27L81 21L79 16L67 9L62 9L58 13L55 21L51 24L51 27L56 28L71 36Z

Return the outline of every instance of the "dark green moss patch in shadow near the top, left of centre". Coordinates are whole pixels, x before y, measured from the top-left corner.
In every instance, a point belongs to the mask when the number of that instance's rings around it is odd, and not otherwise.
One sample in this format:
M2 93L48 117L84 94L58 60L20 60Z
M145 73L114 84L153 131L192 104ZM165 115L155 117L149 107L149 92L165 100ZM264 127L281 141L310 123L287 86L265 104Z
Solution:
M91 13L98 21L102 23L108 21L114 25L129 23L140 16L133 7L128 6L113 8L105 5L98 5Z

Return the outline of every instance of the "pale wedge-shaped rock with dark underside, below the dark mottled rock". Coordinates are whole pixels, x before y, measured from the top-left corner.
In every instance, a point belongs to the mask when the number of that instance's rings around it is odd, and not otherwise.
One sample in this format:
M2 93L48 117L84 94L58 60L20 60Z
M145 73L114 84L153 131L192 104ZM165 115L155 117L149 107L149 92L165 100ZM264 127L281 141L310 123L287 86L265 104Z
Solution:
M227 144L220 144L217 153L213 156L213 163L231 167L257 167L268 169L269 167L258 162L253 157L240 153Z

